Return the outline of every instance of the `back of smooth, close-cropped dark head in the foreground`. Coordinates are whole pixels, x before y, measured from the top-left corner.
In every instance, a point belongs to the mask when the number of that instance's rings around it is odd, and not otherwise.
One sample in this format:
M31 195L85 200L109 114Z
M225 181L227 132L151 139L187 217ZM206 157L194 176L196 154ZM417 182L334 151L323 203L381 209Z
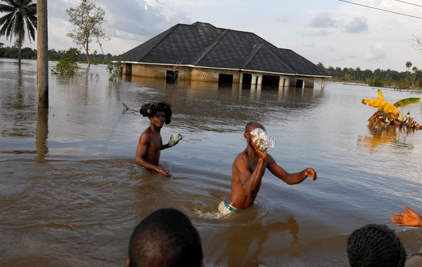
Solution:
M201 266L200 236L177 209L158 209L136 226L129 242L129 266Z

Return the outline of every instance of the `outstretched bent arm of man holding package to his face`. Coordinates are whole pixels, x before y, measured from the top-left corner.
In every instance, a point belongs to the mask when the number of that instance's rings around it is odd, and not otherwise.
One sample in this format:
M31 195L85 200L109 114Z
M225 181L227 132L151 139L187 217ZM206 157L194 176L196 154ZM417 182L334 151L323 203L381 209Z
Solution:
M267 162L267 169L271 171L271 174L274 174L274 176L277 176L289 185L302 183L302 181L308 178L308 176L312 178L312 181L316 180L316 171L314 171L312 168L304 169L303 171L295 174L289 174L276 163L271 155L267 155Z

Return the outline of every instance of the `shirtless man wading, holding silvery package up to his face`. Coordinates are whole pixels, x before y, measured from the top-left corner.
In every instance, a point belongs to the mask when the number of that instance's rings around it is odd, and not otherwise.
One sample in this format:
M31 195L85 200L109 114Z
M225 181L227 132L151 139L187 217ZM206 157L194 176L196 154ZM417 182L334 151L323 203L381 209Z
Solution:
M234 159L232 166L231 194L219 204L219 212L223 215L231 211L239 211L250 207L261 187L262 176L265 169L269 169L274 174L289 185L301 183L308 176L312 181L316 180L316 171L312 168L304 169L296 174L289 174L281 168L271 155L267 154L267 149L260 149L260 140L254 141L251 131L260 128L265 133L265 127L258 122L250 122L245 127L243 136L248 143L243 152Z

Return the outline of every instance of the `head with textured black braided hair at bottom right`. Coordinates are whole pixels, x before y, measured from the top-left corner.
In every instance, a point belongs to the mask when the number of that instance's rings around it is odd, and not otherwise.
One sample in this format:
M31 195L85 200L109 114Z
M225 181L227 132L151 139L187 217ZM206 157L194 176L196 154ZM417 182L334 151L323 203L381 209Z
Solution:
M406 261L399 237L382 224L354 230L347 240L347 256L352 267L402 267Z

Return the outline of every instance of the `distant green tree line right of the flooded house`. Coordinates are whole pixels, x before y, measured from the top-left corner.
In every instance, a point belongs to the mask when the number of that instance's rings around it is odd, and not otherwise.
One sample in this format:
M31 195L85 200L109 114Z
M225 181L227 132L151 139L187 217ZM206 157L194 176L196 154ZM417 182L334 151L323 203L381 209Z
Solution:
M325 67L323 63L318 63L318 67L333 75L333 78L327 79L334 82L368 84L375 87L391 87L398 90L416 89L422 90L422 75L418 67L411 67L412 63L408 61L405 66L407 71L397 72L395 70L361 70L360 67Z

